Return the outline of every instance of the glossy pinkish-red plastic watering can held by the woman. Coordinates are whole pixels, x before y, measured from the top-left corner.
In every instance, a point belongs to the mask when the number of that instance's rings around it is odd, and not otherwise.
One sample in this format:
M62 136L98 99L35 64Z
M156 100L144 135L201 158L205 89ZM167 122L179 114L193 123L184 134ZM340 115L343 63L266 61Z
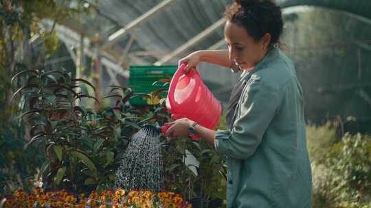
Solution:
M187 63L181 64L172 77L166 99L166 108L172 118L188 118L208 129L214 129L221 117L221 103L205 86L197 70L185 73ZM161 127L164 133L168 126ZM192 139L199 140L197 135Z

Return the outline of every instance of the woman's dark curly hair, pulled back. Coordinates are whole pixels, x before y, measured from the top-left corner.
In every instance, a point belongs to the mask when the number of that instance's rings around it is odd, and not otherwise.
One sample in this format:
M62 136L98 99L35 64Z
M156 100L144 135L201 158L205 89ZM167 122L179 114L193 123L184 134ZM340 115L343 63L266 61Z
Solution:
M281 8L272 0L236 0L225 10L224 17L243 27L256 41L270 34L269 47L279 43L284 23Z

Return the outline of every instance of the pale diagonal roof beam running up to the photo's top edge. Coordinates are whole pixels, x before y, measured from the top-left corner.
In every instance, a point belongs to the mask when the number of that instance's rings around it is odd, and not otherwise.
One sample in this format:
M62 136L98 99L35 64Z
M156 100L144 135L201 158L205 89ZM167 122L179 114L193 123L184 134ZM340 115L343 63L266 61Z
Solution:
M148 19L150 19L151 17L153 17L158 12L161 12L168 5L170 5L170 3L174 3L175 1L176 0L164 0L161 3L159 3L158 5L156 5L154 8L148 10L148 12L142 14L142 16L139 16L138 18L136 18L131 23L128 23L128 25L126 25L124 28L119 29L114 34L112 34L111 36L109 36L108 42L106 42L103 45L103 48L111 47L111 45L113 43L115 43L117 40L119 40L119 38L122 38L126 34L130 33L131 31L133 31L133 29L135 29L135 27L138 27L142 23L148 21Z

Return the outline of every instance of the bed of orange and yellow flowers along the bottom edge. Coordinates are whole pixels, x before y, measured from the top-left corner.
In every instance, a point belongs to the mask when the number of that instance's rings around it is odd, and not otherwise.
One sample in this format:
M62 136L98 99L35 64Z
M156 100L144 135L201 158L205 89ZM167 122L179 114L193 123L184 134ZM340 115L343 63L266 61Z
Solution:
M93 191L89 196L78 196L67 193L65 190L58 192L43 192L41 188L27 194L23 190L17 190L13 196L0 198L0 207L192 207L183 200L180 194L174 192L154 193L148 190L131 190L126 192L122 189L106 190L102 194Z

